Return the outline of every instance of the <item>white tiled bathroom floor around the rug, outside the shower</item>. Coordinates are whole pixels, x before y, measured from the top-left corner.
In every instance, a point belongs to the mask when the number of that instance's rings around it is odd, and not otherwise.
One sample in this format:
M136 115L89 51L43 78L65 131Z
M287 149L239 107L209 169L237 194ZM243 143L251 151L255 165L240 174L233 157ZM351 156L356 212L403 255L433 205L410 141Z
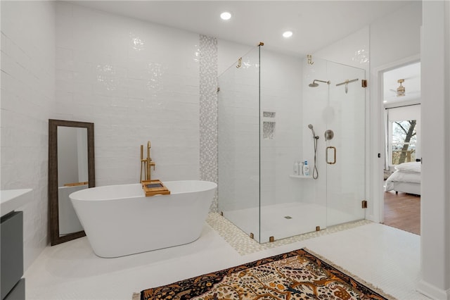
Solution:
M210 225L212 220L213 226ZM86 237L82 237L44 249L25 272L27 299L131 300L133 292L142 289L302 247L397 299L428 299L415 290L420 272L418 235L366 223L315 237L311 235L308 239L281 240L284 244L281 241L267 243L255 251L240 254L242 251L236 249L239 246L232 246L231 237L224 239L212 228L220 224L228 235L236 237L236 244L243 244L241 234L258 244L224 218L218 218L217 214L210 214L202 235L191 244L121 258L99 258Z

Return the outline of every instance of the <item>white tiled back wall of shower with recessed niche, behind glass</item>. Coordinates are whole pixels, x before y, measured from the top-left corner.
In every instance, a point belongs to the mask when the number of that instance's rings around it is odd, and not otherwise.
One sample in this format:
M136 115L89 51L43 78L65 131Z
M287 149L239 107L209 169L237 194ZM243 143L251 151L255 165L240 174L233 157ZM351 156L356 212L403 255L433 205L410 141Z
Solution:
M228 49L229 43L224 47ZM219 79L219 207L223 211L259 205L259 164L262 205L296 201L301 191L300 182L288 177L294 161L302 158L301 60L262 46L261 115L275 112L273 120L264 120L276 124L273 137L261 139L259 161L258 49L241 56L242 67L233 63Z

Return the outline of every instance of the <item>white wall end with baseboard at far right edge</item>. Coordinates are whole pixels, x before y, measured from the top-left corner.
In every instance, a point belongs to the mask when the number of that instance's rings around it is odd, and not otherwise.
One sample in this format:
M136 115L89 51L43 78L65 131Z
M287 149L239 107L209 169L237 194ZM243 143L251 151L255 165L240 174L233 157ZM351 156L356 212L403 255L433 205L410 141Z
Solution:
M418 290L450 299L450 3L423 1L421 280Z

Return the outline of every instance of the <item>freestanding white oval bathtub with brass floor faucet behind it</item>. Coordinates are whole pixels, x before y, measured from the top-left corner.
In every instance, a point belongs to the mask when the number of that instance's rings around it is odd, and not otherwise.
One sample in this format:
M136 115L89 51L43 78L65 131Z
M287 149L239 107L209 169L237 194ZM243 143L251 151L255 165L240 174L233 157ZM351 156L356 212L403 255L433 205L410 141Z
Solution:
M163 182L169 195L144 196L141 184L110 185L70 194L97 256L112 258L179 246L200 237L217 184Z

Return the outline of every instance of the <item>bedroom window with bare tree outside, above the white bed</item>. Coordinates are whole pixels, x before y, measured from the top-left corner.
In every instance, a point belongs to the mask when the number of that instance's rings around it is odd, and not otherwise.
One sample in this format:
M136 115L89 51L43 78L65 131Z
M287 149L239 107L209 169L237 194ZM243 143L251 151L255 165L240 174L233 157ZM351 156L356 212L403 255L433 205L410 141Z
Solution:
M392 125L392 165L416 161L416 120L394 121Z

